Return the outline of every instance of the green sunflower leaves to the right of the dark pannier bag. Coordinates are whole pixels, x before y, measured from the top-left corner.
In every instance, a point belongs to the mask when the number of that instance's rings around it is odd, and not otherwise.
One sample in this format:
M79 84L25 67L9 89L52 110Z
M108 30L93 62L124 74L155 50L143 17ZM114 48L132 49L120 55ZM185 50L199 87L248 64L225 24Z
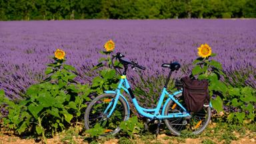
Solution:
M210 57L214 57L215 54ZM207 58L198 58L193 61L196 64L192 70L193 77L198 79L207 79L209 81L209 91L212 96L214 93L219 92L215 99L211 99L213 108L217 112L223 111L225 107L233 107L227 115L229 122L247 123L246 120L255 120L256 103L255 89L251 87L227 87L225 83L220 81L221 77L226 76L222 72L221 63Z

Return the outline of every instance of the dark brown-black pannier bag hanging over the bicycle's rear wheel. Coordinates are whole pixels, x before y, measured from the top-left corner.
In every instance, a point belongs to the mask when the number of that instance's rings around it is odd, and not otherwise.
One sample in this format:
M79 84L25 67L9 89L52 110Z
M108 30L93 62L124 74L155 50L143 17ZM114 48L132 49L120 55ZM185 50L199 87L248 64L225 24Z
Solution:
M188 76L181 78L183 82L183 97L187 109L197 113L203 105L209 105L210 96L207 80L191 79Z

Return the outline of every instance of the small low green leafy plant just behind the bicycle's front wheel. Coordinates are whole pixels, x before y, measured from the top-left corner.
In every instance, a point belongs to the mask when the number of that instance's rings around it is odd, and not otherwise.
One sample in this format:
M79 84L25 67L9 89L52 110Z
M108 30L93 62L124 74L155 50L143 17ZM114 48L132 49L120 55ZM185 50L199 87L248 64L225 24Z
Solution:
M121 131L127 133L131 137L133 134L139 133L143 126L143 123L138 121L137 116L131 117L127 121L122 121L120 124Z

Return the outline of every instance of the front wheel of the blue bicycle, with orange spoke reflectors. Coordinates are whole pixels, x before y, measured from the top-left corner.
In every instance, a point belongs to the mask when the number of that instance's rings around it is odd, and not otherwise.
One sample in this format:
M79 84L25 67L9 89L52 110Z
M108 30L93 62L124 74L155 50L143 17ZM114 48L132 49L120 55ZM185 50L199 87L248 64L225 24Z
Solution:
M115 135L120 131L120 123L129 118L128 106L123 97L119 97L117 105L111 115L107 117L111 111L115 101L115 94L99 95L91 103L89 103L85 110L85 129L93 128L97 123L104 129L104 134Z

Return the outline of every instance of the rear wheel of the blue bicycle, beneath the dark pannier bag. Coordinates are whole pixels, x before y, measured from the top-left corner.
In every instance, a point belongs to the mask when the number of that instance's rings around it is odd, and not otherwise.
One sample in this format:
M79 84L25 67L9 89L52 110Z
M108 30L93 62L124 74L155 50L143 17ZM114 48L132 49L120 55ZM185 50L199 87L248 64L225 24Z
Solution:
M180 93L176 95L179 103L185 105L183 95ZM170 113L183 112L181 107L173 101L167 103L165 115ZM174 117L165 119L165 124L174 135L181 135L181 133L193 133L198 135L209 124L211 120L211 107L203 107L198 113L190 113L191 117Z

